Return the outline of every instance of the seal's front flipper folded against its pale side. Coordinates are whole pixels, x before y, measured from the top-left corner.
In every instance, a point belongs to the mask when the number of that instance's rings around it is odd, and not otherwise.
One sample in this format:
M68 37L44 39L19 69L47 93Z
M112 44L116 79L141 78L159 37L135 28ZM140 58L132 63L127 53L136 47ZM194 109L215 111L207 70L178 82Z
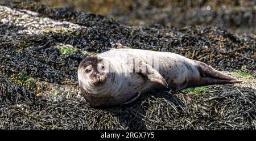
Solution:
M140 74L146 76L151 82L159 83L162 86L168 88L168 83L166 82L166 79L164 79L163 76L159 74L158 71L156 71L152 66L142 62L142 66L143 65L146 66L146 70L144 70L146 72L140 69Z

